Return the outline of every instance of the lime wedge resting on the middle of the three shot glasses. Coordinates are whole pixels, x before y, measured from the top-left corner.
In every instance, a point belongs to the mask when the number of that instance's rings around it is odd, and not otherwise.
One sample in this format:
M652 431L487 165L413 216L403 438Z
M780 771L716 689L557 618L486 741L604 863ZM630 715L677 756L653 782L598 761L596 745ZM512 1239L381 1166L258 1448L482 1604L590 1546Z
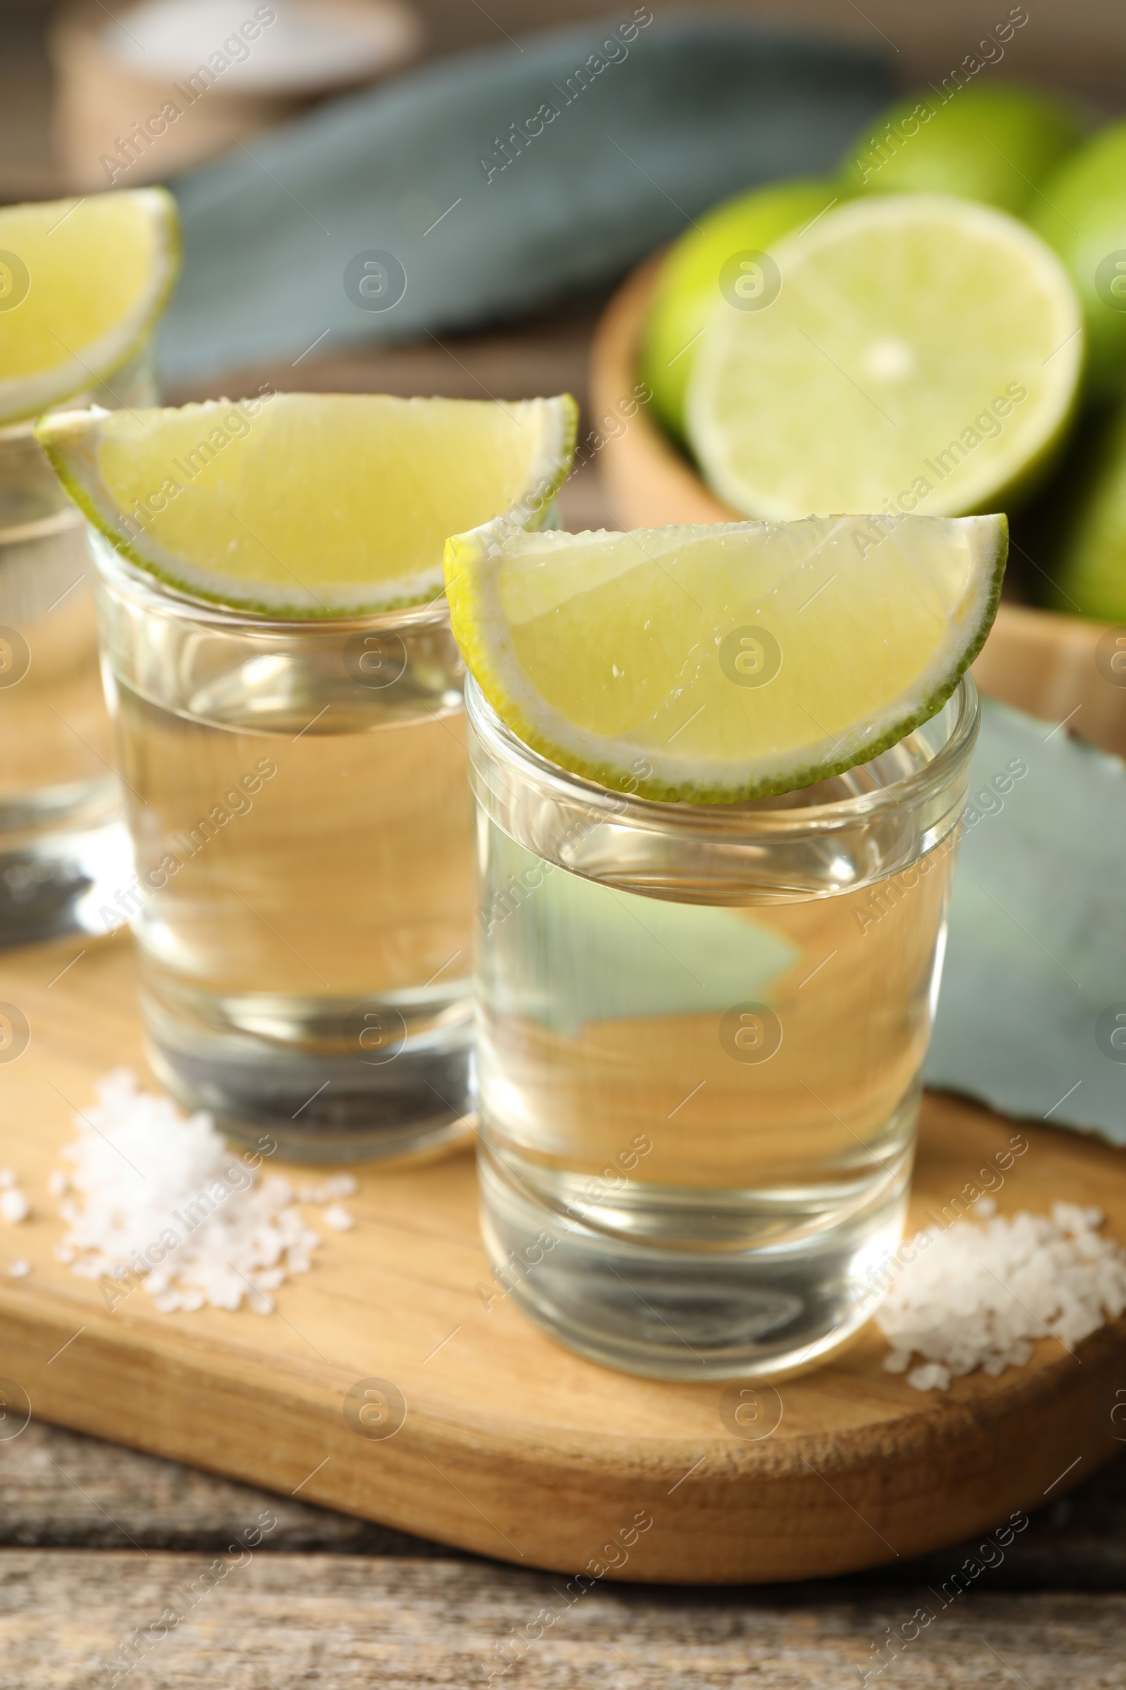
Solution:
M422 603L447 534L539 526L571 465L569 394L522 404L267 394L179 411L59 411L35 434L132 563L279 617Z

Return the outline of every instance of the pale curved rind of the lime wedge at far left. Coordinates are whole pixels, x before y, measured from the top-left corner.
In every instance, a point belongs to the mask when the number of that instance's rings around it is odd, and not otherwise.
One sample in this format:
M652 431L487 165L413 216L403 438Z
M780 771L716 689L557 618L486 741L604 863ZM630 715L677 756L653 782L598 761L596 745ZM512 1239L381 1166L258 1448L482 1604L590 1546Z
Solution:
M182 254L179 213L167 188L137 188L132 189L132 198L160 232L149 287L125 318L83 346L81 357L73 353L66 362L39 375L0 380L0 426L27 421L51 406L88 394L111 380L116 370L132 363L142 352L169 303Z

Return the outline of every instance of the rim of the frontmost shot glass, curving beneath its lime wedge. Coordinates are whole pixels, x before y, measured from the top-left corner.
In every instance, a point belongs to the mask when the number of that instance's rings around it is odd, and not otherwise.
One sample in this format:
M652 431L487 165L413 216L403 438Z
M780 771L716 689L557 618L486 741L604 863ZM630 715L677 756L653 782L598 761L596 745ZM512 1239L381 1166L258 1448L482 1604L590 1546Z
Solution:
M959 766L967 760L981 720L977 688L972 674L966 669L959 676L949 700L927 718L927 722L934 722L949 705L957 708L945 744L912 774L900 781L890 781L886 786L873 788L868 793L836 798L822 804L793 804L785 808L777 799L788 794L780 793L773 799L763 801L763 808L758 808L758 804L750 808L750 804L738 801L729 804L670 803L667 799L640 798L633 793L618 793L613 788L599 786L598 781L572 774L560 764L550 762L540 752L532 750L530 745L525 745L493 710L473 674L466 674L464 700L466 717L486 750L515 766L527 779L542 788L545 796L579 801L593 810L601 808L606 811L606 820L631 825L645 831L697 833L702 837L820 833L854 826L858 821L866 821L869 816L878 816L888 810L923 803L928 796L947 786ZM922 727L925 723L920 722L912 732L918 732ZM891 750L893 747L886 749ZM885 755L885 752L878 755ZM853 767L863 767L863 764L854 764ZM809 791L809 788L795 788L795 791ZM765 808L765 804L771 808Z

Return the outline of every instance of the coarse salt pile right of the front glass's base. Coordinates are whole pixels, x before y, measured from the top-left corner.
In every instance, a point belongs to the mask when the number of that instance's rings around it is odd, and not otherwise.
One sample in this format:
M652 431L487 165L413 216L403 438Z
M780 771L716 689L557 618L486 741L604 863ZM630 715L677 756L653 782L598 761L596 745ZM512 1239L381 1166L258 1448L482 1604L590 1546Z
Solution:
M1072 1350L1126 1308L1126 1251L1099 1234L1101 1210L1053 1203L1050 1218L1006 1220L986 1202L984 1225L915 1234L915 1259L876 1313L891 1344L883 1366L917 1391L945 1391L976 1367L993 1377L1023 1367L1037 1338ZM913 1355L923 1360L912 1369Z

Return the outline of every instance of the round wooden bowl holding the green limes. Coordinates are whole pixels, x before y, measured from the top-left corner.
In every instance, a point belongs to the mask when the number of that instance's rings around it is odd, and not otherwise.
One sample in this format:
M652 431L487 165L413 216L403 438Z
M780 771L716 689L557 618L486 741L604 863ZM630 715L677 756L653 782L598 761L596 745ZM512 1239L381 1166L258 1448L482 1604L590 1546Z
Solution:
M626 529L738 522L739 514L704 485L645 406L630 416L658 264L660 254L623 282L594 336L591 406L603 439L606 505ZM1067 722L1069 732L1126 757L1126 627L1006 600L972 673L983 693L1048 722Z

